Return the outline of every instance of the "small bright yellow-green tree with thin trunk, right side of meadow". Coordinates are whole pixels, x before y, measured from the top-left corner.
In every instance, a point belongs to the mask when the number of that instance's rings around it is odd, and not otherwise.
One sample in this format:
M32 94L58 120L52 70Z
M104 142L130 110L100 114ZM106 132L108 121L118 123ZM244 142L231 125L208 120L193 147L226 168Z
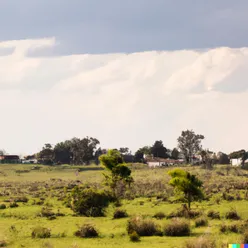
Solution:
M169 184L175 188L177 193L184 194L189 209L192 201L203 199L203 183L195 175L182 169L171 170L168 174L172 177Z

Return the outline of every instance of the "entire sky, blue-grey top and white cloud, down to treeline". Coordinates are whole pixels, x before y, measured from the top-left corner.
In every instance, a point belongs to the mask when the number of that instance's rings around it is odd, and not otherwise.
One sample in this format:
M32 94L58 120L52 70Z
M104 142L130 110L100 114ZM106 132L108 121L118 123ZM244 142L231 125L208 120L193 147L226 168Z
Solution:
M1 0L0 148L203 134L248 150L247 0Z

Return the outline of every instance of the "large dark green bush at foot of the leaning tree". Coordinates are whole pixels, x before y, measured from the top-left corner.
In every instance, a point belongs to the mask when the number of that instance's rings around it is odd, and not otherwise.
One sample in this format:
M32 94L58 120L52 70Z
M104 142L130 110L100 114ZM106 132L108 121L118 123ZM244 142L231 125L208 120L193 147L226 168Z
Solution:
M113 197L107 192L92 188L82 190L76 187L69 197L69 206L79 215L100 217L104 216L105 209L113 200Z

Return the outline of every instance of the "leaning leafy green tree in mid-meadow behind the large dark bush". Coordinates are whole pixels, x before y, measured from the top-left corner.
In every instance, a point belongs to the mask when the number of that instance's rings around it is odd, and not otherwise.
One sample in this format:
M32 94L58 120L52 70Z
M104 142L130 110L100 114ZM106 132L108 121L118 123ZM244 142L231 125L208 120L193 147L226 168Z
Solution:
M123 158L119 151L109 150L107 154L99 157L101 164L111 173L104 174L106 184L111 188L115 197L118 196L117 186L119 183L130 185L133 182L131 170L123 163Z

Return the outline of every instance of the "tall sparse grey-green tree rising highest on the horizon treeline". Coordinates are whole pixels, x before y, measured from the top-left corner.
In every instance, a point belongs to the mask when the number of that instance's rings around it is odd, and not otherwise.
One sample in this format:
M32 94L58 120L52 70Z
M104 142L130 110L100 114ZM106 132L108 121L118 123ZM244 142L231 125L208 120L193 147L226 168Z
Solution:
M177 139L178 148L183 153L187 163L190 163L192 156L201 150L203 139L203 135L195 134L193 130L182 131L181 136Z

